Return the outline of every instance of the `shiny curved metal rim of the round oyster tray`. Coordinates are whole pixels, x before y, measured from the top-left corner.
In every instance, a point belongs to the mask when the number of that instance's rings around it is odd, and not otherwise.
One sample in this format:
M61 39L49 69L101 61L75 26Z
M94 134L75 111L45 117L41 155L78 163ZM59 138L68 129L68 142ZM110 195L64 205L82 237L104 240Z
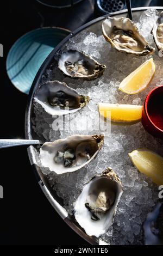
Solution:
M147 9L163 10L163 7L138 7L138 8L133 8L132 11L133 12L135 12L135 11L143 11L143 10L147 10ZM37 72L37 74L36 74L36 76L34 78L32 87L30 88L30 92L29 92L29 95L28 95L26 114L25 114L25 137L26 137L26 139L33 139L32 138L32 133L31 133L32 129L31 129L31 121L30 121L30 111L32 109L32 100L33 100L33 95L34 95L35 89L39 85L41 77L42 77L43 73L46 71L47 66L49 65L49 63L52 62L53 56L54 56L55 52L57 52L61 48L61 46L64 45L73 35L76 35L80 31L82 31L83 29L91 26L92 24L95 24L98 21L101 21L101 20L105 19L105 17L107 17L107 16L116 16L116 15L121 15L121 14L127 14L127 9L121 10L121 11L116 11L115 13L110 13L110 14L106 14L104 16L98 17L97 19L92 20L92 21L86 23L85 25L77 28L70 35L66 36L66 38L64 40L62 40L60 42L60 44L57 47L55 47L54 50L45 59L45 61L41 65L39 71ZM29 156L30 163L33 166L34 173L36 175L37 182L39 183L39 185L41 187L41 190L43 191L43 193L45 194L45 196L49 200L49 203L52 204L52 206L55 209L55 211L58 212L60 217L74 231L76 231L76 233L78 235L83 237L83 239L85 239L91 245L104 245L102 240L97 239L96 237L90 237L90 236L86 235L85 232L82 230L82 228L79 228L78 225L71 220L71 218L68 216L66 210L57 202L57 200L55 200L53 198L52 194L49 192L49 190L46 187L46 185L43 184L43 181L42 181L42 179L41 179L41 177L39 175L39 169L40 168L37 166L37 164L35 162L35 155L34 155L35 153L34 153L34 150L33 150L33 146L30 146L27 151L28 151L28 156Z

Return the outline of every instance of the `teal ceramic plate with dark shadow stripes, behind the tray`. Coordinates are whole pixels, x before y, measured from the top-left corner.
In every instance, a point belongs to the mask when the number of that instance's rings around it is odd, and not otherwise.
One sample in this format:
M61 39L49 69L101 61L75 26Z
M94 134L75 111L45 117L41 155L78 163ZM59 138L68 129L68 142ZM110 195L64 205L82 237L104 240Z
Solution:
M38 28L21 36L7 57L7 73L14 86L28 94L41 64L70 31L62 28Z

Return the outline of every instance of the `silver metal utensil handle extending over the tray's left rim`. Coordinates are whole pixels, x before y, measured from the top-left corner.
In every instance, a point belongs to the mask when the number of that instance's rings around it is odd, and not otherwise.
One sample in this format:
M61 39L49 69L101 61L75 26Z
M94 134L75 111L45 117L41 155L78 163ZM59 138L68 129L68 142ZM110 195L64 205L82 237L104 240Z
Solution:
M0 149L34 144L42 144L42 142L33 139L0 139Z

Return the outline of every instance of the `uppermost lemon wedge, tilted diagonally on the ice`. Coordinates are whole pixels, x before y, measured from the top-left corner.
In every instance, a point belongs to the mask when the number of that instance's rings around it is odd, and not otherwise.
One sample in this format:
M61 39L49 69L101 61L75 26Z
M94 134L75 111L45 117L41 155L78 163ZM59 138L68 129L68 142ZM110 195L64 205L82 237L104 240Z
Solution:
M148 59L121 82L119 89L128 94L140 93L151 82L155 73L153 58Z

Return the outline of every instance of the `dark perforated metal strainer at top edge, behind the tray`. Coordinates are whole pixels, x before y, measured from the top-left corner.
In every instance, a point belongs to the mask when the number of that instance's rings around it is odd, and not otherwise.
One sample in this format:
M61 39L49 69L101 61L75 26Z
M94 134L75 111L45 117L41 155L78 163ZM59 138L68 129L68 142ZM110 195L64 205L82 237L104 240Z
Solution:
M126 7L125 0L97 0L95 8L99 15L114 13L114 11L123 10Z

